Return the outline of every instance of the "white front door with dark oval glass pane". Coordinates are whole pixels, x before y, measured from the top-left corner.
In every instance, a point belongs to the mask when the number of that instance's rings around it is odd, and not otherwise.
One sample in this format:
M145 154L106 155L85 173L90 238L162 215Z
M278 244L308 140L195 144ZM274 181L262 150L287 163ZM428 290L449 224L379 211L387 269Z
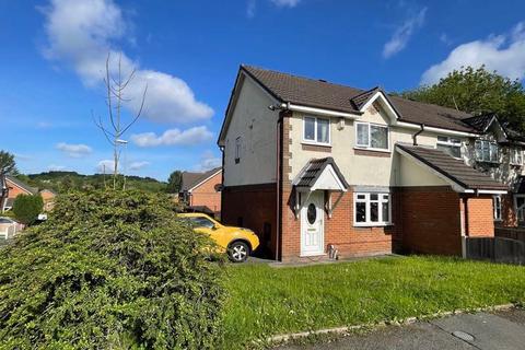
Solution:
M320 255L325 248L324 194L312 192L301 209L301 256Z

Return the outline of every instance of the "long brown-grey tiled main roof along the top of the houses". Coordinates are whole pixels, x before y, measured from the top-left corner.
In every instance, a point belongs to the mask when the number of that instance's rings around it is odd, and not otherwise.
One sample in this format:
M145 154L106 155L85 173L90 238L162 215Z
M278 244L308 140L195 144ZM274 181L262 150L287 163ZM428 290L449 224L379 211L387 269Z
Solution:
M250 66L241 66L249 77L280 102L290 102L310 107L327 108L345 113L359 113L368 98L377 88L369 91L328 83L324 80L314 80L260 69ZM415 102L399 96L387 95L401 121L424 124L465 132L478 132L463 119L472 115L453 108Z

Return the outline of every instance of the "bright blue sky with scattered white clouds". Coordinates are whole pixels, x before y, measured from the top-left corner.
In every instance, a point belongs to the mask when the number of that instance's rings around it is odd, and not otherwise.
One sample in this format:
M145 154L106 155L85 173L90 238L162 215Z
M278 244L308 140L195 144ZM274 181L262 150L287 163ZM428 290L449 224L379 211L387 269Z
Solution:
M166 179L220 164L240 63L369 89L432 83L462 65L525 74L523 1L0 0L0 149L23 173L110 165L104 60L136 69L126 172ZM122 160L124 161L124 160Z

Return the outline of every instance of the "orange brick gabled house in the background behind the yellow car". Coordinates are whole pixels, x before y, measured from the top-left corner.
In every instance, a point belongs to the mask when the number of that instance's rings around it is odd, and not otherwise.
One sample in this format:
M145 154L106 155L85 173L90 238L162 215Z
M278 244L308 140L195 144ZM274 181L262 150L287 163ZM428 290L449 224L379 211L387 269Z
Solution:
M221 185L222 167L205 173L183 172L179 198L190 209L220 215Z

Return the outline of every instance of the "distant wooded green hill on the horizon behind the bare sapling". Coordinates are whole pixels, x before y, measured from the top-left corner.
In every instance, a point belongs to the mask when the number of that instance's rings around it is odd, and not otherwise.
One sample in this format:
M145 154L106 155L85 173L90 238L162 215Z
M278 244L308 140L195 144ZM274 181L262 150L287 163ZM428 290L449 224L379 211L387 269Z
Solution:
M71 189L108 188L113 187L113 176L104 174L83 175L75 172L46 172L40 174L16 176L27 185L38 189L47 188L56 192L66 192ZM121 188L124 176L119 176ZM126 176L126 188L143 189L153 192L166 190L166 183L151 177Z

